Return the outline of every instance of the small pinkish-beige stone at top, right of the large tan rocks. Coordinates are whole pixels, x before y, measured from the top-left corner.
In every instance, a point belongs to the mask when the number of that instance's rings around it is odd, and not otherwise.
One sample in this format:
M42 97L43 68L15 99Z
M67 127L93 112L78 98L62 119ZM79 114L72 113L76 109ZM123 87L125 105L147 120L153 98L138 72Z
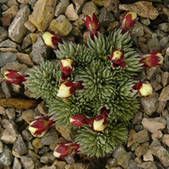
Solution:
M66 11L65 11L65 15L67 16L67 18L70 20L70 21L76 21L79 16L77 15L75 9L74 9L74 6L73 4L70 4L67 8L66 8Z

